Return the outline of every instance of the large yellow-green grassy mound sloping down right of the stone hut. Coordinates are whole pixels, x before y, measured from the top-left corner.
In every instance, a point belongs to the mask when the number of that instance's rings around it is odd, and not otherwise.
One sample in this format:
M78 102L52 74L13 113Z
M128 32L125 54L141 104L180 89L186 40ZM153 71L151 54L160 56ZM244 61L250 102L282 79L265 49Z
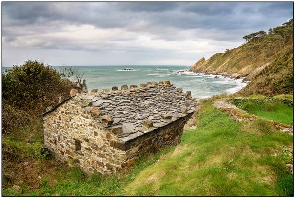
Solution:
M198 128L186 131L174 151L143 170L126 195L293 195L293 176L282 157L291 135L264 120L236 123L208 103L197 117Z

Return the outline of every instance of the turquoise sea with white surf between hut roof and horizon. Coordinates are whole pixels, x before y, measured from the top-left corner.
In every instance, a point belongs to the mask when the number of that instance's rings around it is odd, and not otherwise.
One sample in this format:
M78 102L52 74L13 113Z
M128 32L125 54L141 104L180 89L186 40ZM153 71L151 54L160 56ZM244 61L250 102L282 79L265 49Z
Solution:
M204 75L179 70L188 70L191 66L77 66L80 73L84 73L88 90L98 88L121 87L123 84L139 85L151 81L170 80L183 91L190 90L193 97L208 98L221 93L234 93L246 85L242 79L233 80L223 76ZM60 71L61 67L53 67ZM123 69L131 68L132 71ZM3 67L4 71L5 67Z

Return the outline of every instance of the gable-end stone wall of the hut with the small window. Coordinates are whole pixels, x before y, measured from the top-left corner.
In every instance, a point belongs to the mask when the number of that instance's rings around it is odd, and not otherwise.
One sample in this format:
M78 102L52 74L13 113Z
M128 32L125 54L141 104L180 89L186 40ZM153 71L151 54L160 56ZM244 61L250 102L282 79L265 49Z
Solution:
M46 114L44 145L56 158L79 166L87 173L108 174L125 165L125 151L110 146L118 137L100 126L74 99ZM76 150L80 144L81 150Z

